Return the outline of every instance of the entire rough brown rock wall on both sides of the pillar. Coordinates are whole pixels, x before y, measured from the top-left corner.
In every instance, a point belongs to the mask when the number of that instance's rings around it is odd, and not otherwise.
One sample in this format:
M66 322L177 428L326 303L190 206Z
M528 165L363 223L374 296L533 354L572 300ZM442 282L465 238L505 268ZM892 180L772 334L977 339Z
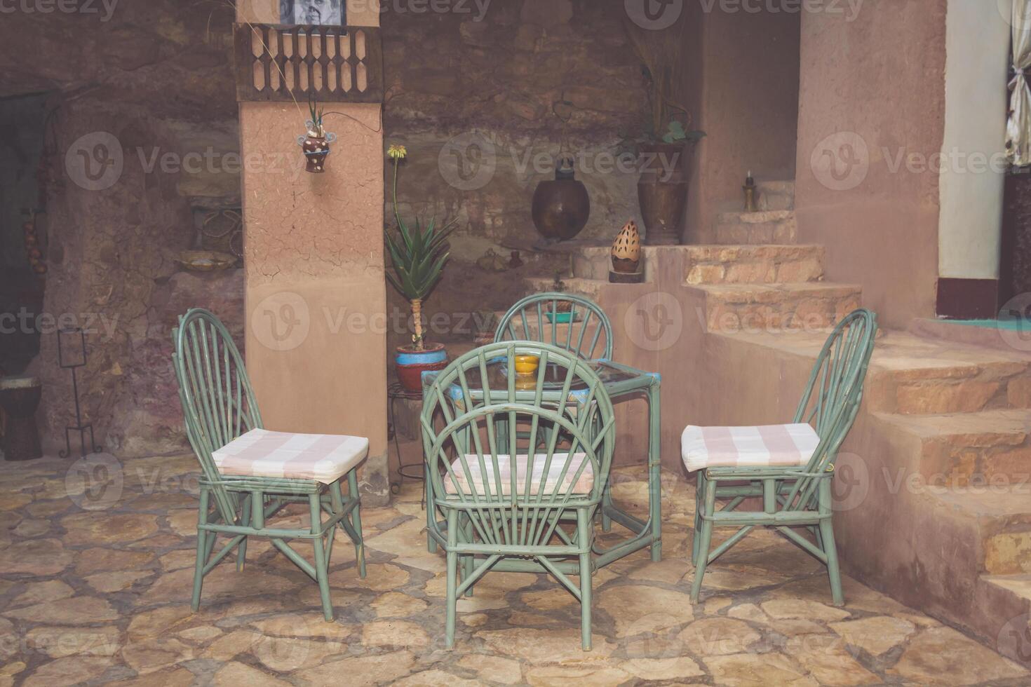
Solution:
M637 173L618 156L650 111L622 2L448 6L471 9L418 13L389 3L381 14L385 132L409 149L402 214L458 221L453 263L426 308L428 317L446 314L431 330L437 340L468 339L468 313L504 309L521 294L519 270L477 261L488 250L507 261L538 239L531 199L538 181L553 178L563 142L592 200L581 237L607 238L638 214ZM43 310L90 330L79 374L85 418L123 456L179 450L169 367L175 316L210 307L242 332L241 275L187 274L174 261L197 244L197 208L239 205L233 8L191 0L91 7L98 11L5 14L0 96L49 94ZM488 147L490 164L479 157ZM389 297L397 345L408 336L407 305L393 289ZM56 450L73 402L53 331L30 371L43 379L41 428Z

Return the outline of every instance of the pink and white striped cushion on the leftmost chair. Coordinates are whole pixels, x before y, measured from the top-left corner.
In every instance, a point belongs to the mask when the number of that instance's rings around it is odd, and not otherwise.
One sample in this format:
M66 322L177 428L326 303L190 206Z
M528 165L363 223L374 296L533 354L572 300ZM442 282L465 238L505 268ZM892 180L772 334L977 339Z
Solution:
M252 430L211 454L223 475L315 480L332 484L369 452L369 440Z

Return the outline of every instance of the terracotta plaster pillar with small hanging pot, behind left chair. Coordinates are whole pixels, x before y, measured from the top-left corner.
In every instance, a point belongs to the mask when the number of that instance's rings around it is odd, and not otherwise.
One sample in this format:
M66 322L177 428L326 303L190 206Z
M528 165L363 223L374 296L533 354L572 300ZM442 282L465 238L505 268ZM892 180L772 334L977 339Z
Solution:
M377 21L348 7L351 24ZM348 116L327 117L338 139L308 174L298 107L240 103L244 160L281 161L242 175L247 368L269 428L369 438L359 474L375 505L389 500L380 106L332 109Z

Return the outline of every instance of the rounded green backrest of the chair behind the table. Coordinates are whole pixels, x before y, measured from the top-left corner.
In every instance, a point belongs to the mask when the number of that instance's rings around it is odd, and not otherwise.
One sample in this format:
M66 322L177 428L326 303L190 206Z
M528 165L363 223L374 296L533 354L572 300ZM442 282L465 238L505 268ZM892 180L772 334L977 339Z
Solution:
M560 308L569 308L569 314ZM608 315L594 301L570 294L526 297L498 322L494 340L540 341L588 360L612 358L612 324Z

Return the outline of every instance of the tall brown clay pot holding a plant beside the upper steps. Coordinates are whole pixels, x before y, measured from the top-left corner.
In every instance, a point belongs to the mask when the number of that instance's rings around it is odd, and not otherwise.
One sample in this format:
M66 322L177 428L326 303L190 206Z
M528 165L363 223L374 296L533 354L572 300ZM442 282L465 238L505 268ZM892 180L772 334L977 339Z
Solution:
M637 200L644 220L645 245L680 243L688 207L688 152L689 148L679 144L641 147Z

